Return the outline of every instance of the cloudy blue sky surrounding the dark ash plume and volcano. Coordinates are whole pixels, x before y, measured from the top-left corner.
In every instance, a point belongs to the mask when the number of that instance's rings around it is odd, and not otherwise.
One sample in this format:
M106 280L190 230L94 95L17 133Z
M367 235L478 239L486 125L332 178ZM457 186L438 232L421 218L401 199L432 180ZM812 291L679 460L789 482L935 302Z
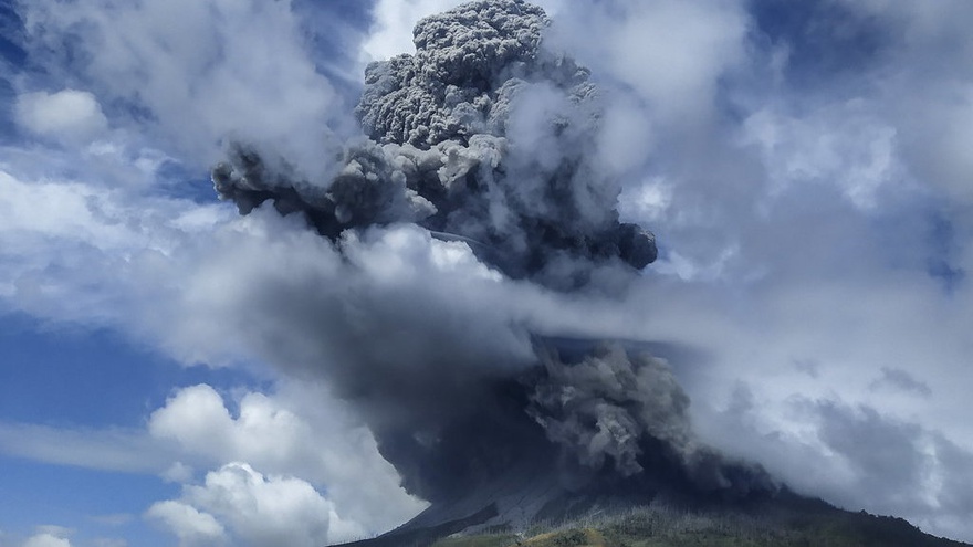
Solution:
M339 356L294 297L390 277L469 287L436 305L489 325L692 347L672 366L705 442L973 541L973 8L540 2L659 241L624 303L481 302L471 255L401 228L349 284L299 220L216 199L232 139L328 172L364 65L457 3L0 0L0 547L321 545L416 514L306 366Z

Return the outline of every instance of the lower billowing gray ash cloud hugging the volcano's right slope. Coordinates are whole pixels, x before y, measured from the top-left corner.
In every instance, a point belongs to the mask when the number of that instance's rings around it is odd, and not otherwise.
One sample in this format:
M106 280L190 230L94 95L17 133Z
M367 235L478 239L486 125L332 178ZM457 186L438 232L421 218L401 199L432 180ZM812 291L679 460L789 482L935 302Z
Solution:
M568 354L577 354L573 345ZM760 466L726 461L697 441L689 396L665 359L620 341L594 344L574 358L557 346L541 348L546 374L532 385L527 413L583 466L632 477L676 465L693 488L731 496L775 487Z

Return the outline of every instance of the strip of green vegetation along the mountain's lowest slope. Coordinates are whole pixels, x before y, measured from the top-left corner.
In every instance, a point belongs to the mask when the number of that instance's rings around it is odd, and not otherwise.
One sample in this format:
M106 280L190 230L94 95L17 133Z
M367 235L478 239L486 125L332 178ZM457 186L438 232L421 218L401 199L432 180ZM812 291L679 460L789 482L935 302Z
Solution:
M433 547L958 547L906 520L833 507L688 513L640 507L522 534L452 536ZM808 511L810 509L810 511Z

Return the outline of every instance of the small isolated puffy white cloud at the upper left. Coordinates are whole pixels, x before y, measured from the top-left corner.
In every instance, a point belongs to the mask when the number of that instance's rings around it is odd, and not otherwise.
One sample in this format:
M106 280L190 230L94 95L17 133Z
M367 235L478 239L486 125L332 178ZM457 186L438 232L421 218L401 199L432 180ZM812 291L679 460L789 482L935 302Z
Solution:
M94 138L108 126L97 98L77 90L21 94L17 97L15 114L25 129L64 140Z

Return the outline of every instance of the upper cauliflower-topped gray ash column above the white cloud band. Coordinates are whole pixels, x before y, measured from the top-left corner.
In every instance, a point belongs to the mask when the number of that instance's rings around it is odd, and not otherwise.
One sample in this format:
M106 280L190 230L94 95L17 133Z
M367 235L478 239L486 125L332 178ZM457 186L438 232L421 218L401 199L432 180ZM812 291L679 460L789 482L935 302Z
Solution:
M590 162L599 98L588 71L542 46L544 12L519 0L471 2L423 19L415 55L373 63L351 144L332 180L232 146L213 169L242 213L272 200L321 232L416 222L514 277L584 284L594 265L641 269L651 232L618 221L618 180ZM512 113L516 112L514 116Z

